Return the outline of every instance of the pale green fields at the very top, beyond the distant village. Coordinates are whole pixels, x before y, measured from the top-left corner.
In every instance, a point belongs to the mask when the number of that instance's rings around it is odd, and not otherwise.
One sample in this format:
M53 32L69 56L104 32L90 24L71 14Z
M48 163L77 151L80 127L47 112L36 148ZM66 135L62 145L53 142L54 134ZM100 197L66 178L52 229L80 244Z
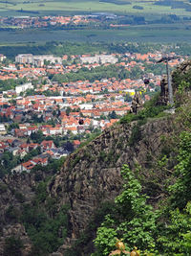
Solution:
M191 12L186 12L184 7L172 9L171 6L155 5L159 0L50 0L50 1L0 1L0 14L9 12L15 15L15 11L38 12L43 14L47 13L60 13L60 12L120 12L120 13L152 13L152 14L177 14L190 16ZM174 0L175 2L175 0ZM188 0L182 1L182 4L190 5ZM142 10L135 9L134 7L141 7ZM191 5L190 5L191 7ZM2 13L1 13L2 12Z

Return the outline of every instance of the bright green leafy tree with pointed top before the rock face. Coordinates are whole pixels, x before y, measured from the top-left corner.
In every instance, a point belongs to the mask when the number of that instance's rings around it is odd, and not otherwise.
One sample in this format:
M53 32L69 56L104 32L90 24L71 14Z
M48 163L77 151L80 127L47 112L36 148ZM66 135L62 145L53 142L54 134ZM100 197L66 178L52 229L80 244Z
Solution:
M107 215L97 229L96 249L100 255L108 255L117 238L123 239L127 249L137 245L141 249L154 249L158 214L141 195L141 185L127 165L121 170L125 181L122 193L115 199L116 214ZM108 230L110 231L108 233Z

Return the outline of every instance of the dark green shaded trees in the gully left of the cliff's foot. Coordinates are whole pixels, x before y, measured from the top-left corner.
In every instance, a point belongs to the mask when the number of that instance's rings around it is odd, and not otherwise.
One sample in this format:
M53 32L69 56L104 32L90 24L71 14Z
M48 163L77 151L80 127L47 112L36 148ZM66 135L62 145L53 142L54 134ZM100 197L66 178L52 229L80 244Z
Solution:
M68 232L69 207L63 205L58 211L56 200L48 198L46 187L47 181L41 181L32 204L23 206L21 220L32 240L32 255L48 255L55 251Z

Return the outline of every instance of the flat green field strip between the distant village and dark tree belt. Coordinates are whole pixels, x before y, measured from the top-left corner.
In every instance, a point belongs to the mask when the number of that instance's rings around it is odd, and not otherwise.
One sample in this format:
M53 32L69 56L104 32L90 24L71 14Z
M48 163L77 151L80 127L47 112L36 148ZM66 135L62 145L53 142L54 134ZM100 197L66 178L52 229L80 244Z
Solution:
M89 41L89 42L190 42L191 25L184 28L177 24L139 25L124 30L20 30L0 32L1 44L12 42L46 42L46 41Z

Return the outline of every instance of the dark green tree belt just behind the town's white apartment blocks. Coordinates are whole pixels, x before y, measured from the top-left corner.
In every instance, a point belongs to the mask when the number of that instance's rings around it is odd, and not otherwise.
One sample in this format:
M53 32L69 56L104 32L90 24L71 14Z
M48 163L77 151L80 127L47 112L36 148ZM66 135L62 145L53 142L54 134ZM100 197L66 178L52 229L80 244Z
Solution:
M46 42L45 44L29 43L26 45L0 46L0 52L8 58L14 58L18 54L53 54L61 55L82 55L93 54L99 52L126 53L126 52L143 52L146 53L150 49L150 44L134 44L134 43L88 43L88 42ZM154 49L159 49L159 45L152 45Z

